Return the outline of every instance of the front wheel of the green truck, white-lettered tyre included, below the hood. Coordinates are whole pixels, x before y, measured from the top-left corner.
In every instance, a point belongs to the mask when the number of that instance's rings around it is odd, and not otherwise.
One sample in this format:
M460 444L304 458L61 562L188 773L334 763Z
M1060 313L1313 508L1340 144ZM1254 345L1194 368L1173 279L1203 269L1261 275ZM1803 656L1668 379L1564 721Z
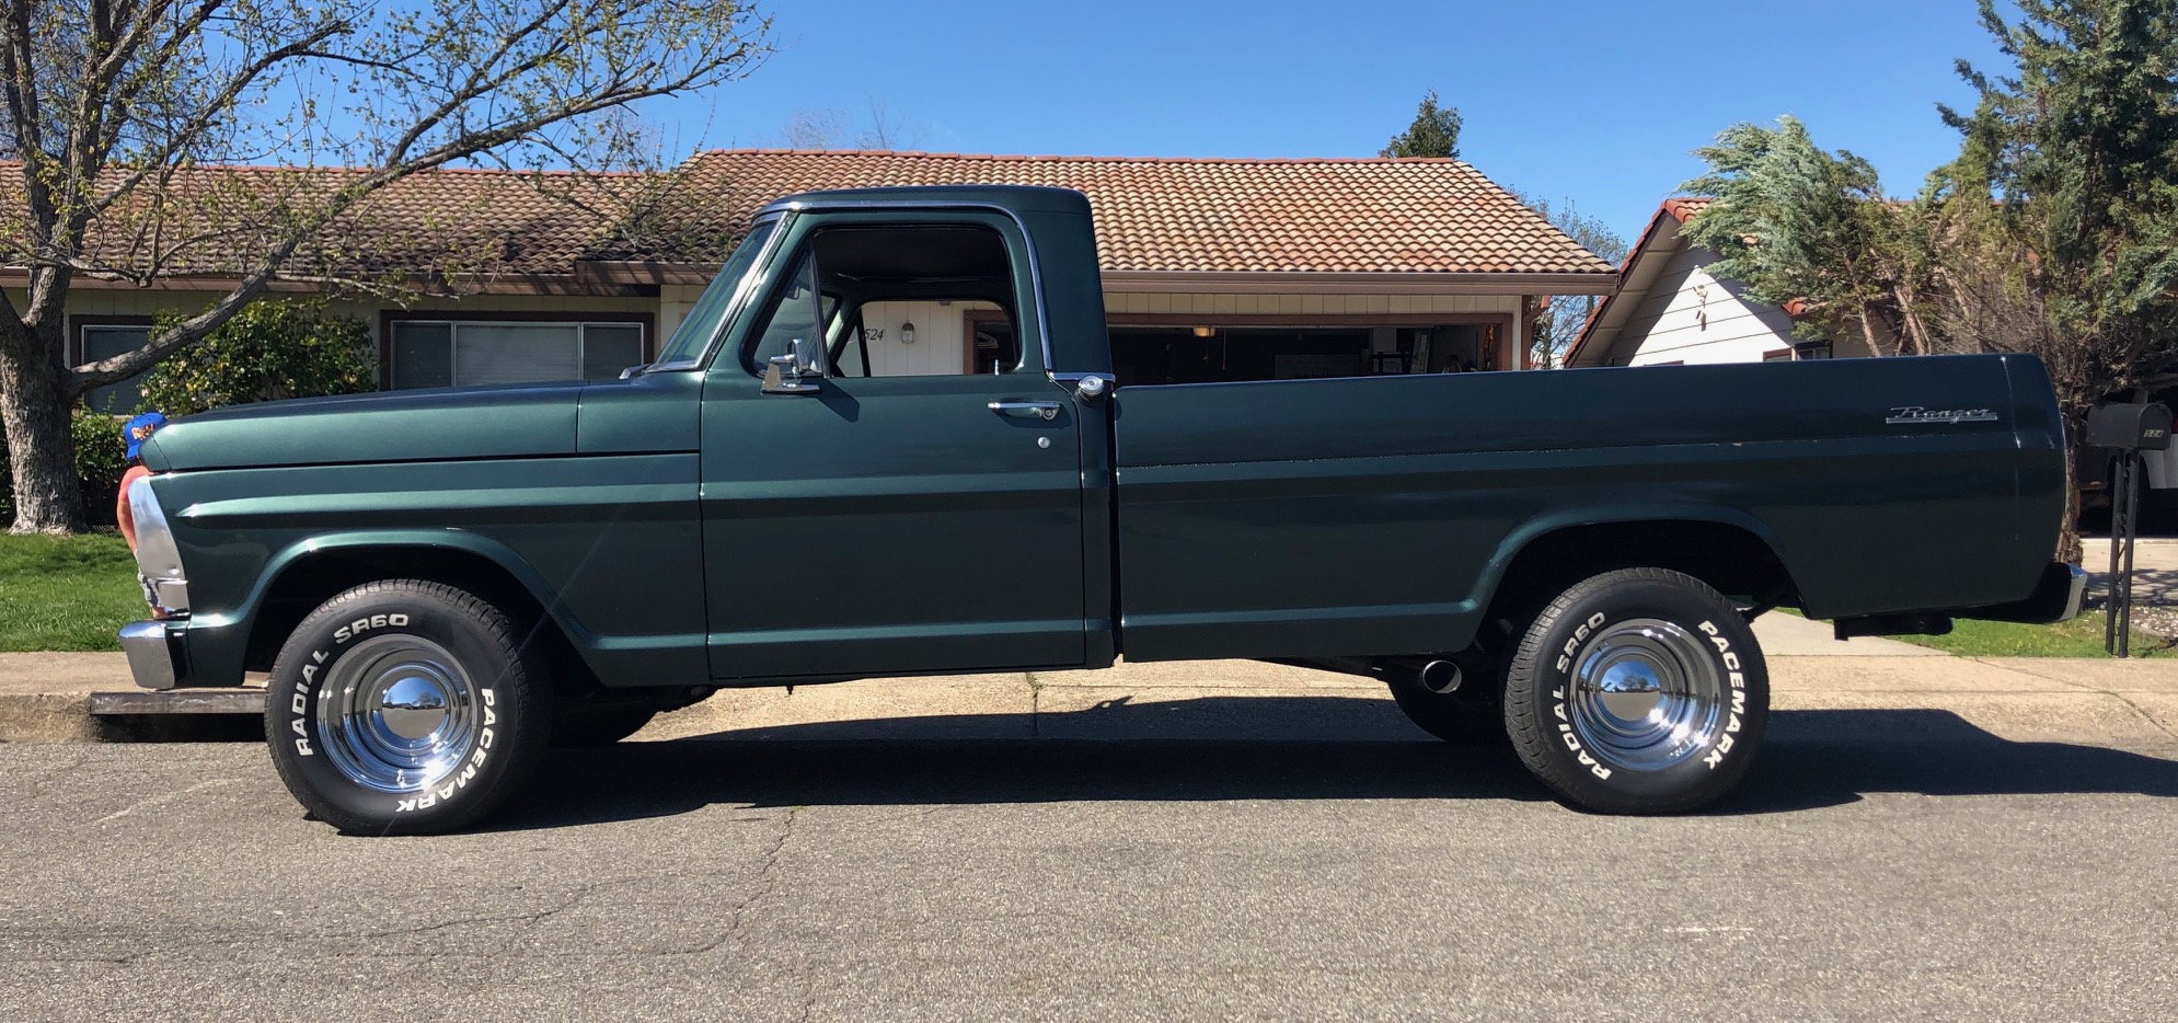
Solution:
M505 614L444 583L333 596L272 664L266 738L287 792L351 834L433 834L536 773L551 692Z

